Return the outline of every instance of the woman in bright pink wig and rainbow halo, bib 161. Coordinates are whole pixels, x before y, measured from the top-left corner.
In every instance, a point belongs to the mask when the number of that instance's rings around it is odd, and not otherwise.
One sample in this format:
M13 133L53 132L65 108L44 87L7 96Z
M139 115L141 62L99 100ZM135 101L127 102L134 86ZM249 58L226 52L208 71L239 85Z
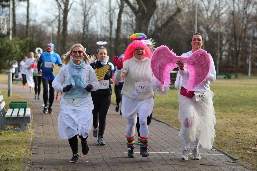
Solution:
M117 66L114 81L121 81L125 77L121 91L121 112L128 120L126 129L128 157L135 157L135 125L138 115L140 154L142 157L147 157L149 156L147 117L151 115L154 107L154 92L148 87L153 76L150 66L152 52L147 44L141 41L146 38L143 33L136 33L130 38L134 41L125 50L124 58L119 60L118 56L113 57L113 62Z

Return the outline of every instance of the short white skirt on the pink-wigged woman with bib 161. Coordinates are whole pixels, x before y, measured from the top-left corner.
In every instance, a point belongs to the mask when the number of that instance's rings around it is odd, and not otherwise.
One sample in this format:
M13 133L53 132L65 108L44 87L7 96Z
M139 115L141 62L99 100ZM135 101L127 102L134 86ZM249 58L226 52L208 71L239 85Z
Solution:
M154 109L153 97L147 100L135 100L123 95L121 101L121 113L127 119L137 117L140 109L147 110L150 116Z

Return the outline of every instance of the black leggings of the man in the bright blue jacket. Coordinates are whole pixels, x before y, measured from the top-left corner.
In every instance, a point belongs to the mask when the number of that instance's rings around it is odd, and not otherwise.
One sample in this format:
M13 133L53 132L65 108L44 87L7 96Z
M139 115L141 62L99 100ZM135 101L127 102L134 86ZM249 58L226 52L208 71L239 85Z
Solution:
M52 81L47 80L46 78L42 78L43 83L43 99L44 104L47 106L47 100L48 100L48 84L49 84L49 107L52 107L53 100L54 100L54 89L52 87Z

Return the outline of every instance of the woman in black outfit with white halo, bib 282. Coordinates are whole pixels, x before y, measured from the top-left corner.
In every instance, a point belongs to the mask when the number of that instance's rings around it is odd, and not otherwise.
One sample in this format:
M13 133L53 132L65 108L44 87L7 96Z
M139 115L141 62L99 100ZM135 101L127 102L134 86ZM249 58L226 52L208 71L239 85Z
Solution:
M98 43L98 42L97 42ZM106 42L107 43L107 42ZM98 44L99 45L99 44ZM96 62L90 63L93 69L99 69L106 65L108 65L107 58L107 50L105 47L100 47L97 49L97 52L94 54L94 60ZM93 136L98 137L97 143L98 145L105 145L103 141L103 134L105 130L106 124L106 115L111 104L111 95L112 95L112 87L113 84L112 79L112 67L110 65L106 74L103 78L99 79L99 90L92 92L92 99L94 103L93 110Z

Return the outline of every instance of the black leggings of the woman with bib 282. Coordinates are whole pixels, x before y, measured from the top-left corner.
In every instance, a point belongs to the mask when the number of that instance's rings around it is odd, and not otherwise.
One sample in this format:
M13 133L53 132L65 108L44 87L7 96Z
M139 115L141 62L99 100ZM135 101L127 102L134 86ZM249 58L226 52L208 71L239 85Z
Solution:
M98 122L99 122L99 128L98 128L98 135L103 138L103 133L105 130L105 124L106 124L106 115L109 109L109 106L111 104L111 95L92 95L92 100L94 103L94 109L92 111L93 113L93 126L94 128L97 128Z

